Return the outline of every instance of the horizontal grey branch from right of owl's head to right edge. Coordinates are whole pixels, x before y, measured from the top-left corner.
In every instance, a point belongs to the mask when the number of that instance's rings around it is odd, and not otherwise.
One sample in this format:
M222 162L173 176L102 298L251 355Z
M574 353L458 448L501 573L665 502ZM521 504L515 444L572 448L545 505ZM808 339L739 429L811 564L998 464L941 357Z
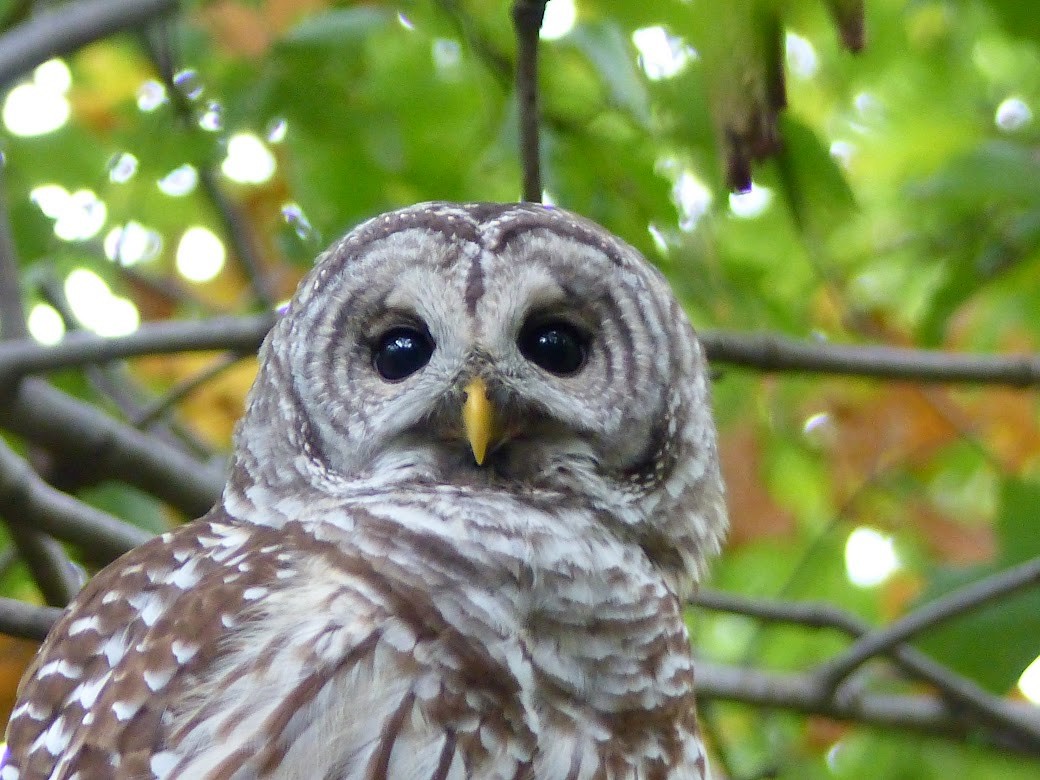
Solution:
M708 360L765 371L836 373L914 382L1040 384L1040 357L962 355L892 346L806 343L781 336L705 331Z

